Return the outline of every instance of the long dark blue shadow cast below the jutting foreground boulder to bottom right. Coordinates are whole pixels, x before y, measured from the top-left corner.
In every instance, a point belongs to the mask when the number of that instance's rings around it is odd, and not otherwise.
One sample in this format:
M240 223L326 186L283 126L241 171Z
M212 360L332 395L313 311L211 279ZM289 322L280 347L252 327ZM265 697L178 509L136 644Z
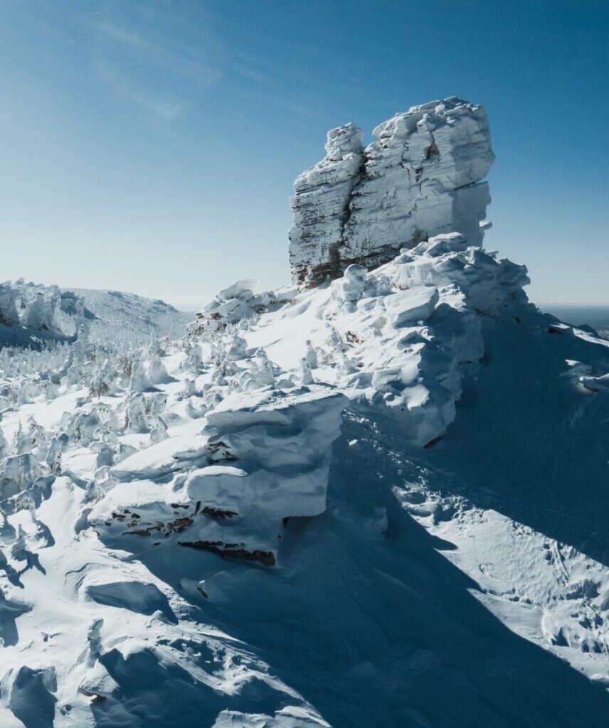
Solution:
M388 432L345 422L329 510L290 520L275 569L211 574L204 621L333 727L605 726L603 687L508 630L398 502Z

